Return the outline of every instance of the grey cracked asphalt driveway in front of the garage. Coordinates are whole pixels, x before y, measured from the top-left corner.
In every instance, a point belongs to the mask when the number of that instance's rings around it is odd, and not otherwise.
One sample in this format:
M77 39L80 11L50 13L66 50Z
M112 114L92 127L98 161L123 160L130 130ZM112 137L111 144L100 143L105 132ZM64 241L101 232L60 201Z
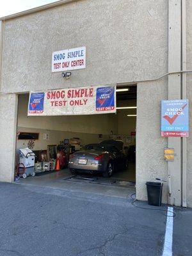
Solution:
M6 183L0 195L2 256L163 255L166 212L129 198ZM175 212L173 255L191 255L192 212Z

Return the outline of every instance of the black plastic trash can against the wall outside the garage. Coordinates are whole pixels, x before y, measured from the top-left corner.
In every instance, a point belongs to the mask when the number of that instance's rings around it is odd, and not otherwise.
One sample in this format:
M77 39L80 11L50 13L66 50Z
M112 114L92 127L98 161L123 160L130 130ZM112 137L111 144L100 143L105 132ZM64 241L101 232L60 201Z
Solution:
M147 185L147 197L148 197L148 204L161 206L162 200L162 182L146 182Z

